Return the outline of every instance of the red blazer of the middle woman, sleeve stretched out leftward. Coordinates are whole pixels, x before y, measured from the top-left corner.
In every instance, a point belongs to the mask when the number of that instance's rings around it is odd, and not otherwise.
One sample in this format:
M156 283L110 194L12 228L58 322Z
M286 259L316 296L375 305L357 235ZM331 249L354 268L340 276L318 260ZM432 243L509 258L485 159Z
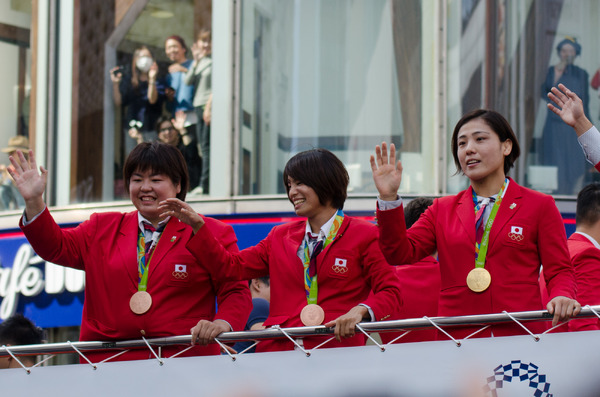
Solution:
M304 267L298 258L306 221L274 227L258 245L231 253L215 241L209 228L202 227L187 247L217 280L247 280L270 275L271 306L266 327L299 327L300 311L306 306ZM345 259L347 272L336 272L337 259ZM359 303L369 306L377 320L397 314L401 306L400 283L377 245L377 228L372 223L344 217L337 238L317 257L318 304L325 311L324 323L335 320ZM370 295L371 290L374 294ZM305 338L312 348L325 337ZM362 334L335 340L324 347L364 345ZM257 351L290 350L287 339L263 341Z

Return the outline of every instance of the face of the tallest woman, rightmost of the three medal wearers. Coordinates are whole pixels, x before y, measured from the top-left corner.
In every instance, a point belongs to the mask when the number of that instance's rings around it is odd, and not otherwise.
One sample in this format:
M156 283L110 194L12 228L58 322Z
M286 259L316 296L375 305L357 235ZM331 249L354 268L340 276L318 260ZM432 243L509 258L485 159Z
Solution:
M472 183L504 180L504 158L510 154L512 142L500 142L484 120L476 118L464 124L458 132L457 147L460 168Z

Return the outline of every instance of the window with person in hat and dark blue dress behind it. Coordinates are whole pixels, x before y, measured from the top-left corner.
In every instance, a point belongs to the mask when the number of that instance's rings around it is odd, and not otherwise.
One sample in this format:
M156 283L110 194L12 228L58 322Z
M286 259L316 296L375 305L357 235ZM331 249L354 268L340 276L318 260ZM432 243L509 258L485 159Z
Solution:
M464 0L449 6L448 139L463 113L491 108L506 116L519 139L521 157L511 171L519 183L576 195L597 180L572 128L546 107L550 88L563 83L582 98L592 122L598 119L594 90L600 83L592 79L600 64L593 44L597 2ZM466 181L453 175L450 152L447 158L448 191L456 192Z

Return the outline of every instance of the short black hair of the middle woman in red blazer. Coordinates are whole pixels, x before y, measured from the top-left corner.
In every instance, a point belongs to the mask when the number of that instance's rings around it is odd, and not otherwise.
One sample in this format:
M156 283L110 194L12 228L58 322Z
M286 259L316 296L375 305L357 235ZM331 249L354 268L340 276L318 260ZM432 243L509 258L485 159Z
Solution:
M344 163L329 150L306 150L287 162L283 170L283 185L289 199L288 177L311 187L321 205L344 208L350 177Z

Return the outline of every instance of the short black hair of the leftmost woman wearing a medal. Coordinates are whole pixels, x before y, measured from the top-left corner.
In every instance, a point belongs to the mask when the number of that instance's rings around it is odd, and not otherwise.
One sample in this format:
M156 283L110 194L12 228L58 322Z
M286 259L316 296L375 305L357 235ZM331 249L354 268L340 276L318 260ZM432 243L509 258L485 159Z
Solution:
M142 142L133 148L123 166L125 190L129 193L129 180L135 172L146 172L168 176L173 184L181 185L177 198L185 200L190 186L190 176L183 155L175 146L159 141Z

